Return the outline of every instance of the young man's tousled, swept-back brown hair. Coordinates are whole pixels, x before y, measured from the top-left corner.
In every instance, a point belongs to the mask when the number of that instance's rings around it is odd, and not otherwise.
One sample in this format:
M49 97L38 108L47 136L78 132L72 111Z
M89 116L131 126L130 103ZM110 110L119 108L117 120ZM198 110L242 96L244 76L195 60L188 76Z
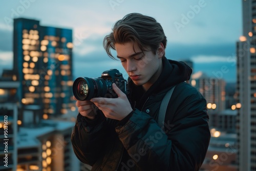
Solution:
M113 59L115 57L112 55L111 49L116 50L116 43L132 42L133 47L138 45L142 52L150 50L154 54L156 54L160 43L163 44L164 48L167 44L163 28L156 19L139 13L125 15L115 23L112 31L104 37L103 47Z

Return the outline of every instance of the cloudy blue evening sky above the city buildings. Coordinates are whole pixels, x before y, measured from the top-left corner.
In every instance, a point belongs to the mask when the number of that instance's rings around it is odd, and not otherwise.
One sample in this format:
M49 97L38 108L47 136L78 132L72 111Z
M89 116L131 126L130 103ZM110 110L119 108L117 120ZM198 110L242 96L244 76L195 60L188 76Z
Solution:
M40 21L41 26L73 30L73 76L100 77L120 61L106 55L102 40L124 15L154 17L167 37L166 57L193 61L193 73L236 81L236 42L242 36L240 0L20 0L1 1L0 74L12 69L13 19Z

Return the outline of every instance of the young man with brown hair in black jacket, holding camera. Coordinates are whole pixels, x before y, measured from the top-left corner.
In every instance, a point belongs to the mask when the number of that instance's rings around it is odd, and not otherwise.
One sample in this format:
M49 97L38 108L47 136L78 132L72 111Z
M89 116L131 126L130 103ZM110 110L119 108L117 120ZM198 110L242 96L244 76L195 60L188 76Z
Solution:
M118 98L76 102L71 140L77 158L92 170L178 171L202 165L210 139L206 101L185 82L191 69L165 57L166 42L161 25L138 13L118 20L104 38L108 55L115 58L111 49L116 50L129 75L130 89L124 94L114 83ZM156 122L159 106L174 86L163 131Z

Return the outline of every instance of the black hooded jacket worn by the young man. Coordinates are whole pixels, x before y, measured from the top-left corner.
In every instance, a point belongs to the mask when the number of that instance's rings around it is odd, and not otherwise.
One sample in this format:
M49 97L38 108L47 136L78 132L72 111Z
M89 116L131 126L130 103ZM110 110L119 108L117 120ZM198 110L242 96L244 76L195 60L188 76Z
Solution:
M163 58L163 71L148 91L129 79L134 111L121 121L101 111L93 121L78 114L71 136L77 158L92 170L199 170L210 139L206 100L184 82L191 69ZM175 86L164 120L156 123L165 93Z

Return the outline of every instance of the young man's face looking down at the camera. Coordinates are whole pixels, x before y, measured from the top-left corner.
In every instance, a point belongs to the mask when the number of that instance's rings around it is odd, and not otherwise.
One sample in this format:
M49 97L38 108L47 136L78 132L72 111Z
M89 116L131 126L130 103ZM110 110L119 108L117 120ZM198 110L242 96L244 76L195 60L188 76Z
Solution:
M133 47L134 46L134 47ZM164 48L162 44L154 54L152 51L143 51L132 42L115 44L117 57L122 66L137 86L148 90L157 80L162 71L162 57Z

